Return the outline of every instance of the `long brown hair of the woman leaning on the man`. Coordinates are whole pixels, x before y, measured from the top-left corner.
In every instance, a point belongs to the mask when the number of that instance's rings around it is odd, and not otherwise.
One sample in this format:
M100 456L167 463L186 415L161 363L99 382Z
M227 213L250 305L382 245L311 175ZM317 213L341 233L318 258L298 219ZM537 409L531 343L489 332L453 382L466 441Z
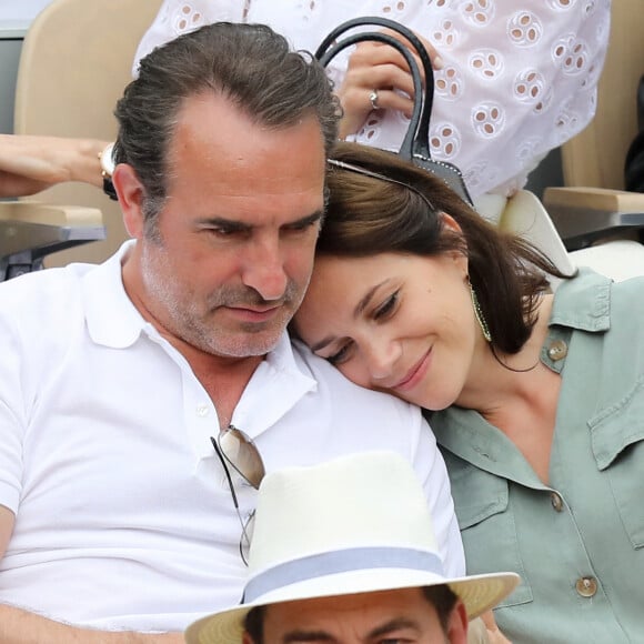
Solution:
M332 158L412 189L330 165L329 202L316 253L432 256L457 250L467 256L470 282L490 326L492 349L516 353L536 321L539 295L550 290L545 274L566 275L527 241L493 227L443 181L398 155L339 143ZM462 234L444 227L439 212L452 215Z

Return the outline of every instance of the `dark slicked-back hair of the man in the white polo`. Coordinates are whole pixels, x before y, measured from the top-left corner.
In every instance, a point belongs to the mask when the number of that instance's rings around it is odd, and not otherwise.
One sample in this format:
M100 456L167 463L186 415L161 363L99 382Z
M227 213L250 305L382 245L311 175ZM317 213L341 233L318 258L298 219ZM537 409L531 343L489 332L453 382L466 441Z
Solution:
M119 100L118 163L145 190L153 225L167 195L168 150L185 99L222 95L256 123L279 130L306 114L320 121L326 150L338 138L340 103L324 69L263 24L215 22L180 36L141 60L139 78Z

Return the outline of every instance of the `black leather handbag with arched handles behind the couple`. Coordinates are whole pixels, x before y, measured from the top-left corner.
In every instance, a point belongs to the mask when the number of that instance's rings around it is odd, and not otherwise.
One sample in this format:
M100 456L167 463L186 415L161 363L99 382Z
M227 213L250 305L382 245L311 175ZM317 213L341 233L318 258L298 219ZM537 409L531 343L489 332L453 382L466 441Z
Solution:
M356 27L385 27L403 36L414 48L417 53L423 71L425 74L425 89L423 90L422 76L416 59L412 56L409 48L395 38L381 31L360 31L344 36L342 34ZM452 163L432 159L430 153L430 119L432 115L432 105L434 102L434 72L430 57L416 34L403 24L380 18L376 16L366 16L348 20L333 29L322 41L315 51L315 58L321 64L326 67L329 62L342 50L364 41L383 42L398 50L409 64L414 84L414 107L410 119L410 124L404 140L400 147L399 154L416 164L424 170L429 170L436 177L440 177L447 185L469 204L472 204L472 198L467 192L467 187L463 180L461 171Z

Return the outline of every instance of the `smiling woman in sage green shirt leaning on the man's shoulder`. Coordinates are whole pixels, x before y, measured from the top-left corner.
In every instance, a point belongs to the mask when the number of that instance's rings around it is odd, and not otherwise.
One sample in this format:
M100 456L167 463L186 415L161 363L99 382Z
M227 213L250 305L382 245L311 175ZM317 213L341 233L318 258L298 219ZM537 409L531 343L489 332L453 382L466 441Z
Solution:
M334 158L293 331L431 413L469 573L523 578L495 611L512 642L641 641L644 281L583 271L553 295L547 259L427 173Z

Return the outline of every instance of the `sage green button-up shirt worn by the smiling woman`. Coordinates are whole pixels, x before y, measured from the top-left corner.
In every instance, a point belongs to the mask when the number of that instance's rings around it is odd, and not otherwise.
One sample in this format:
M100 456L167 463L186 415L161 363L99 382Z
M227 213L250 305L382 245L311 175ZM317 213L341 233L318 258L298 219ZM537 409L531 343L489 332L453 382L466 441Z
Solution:
M644 279L560 285L542 361L561 373L544 485L473 411L431 415L469 574L515 571L514 644L644 642Z

